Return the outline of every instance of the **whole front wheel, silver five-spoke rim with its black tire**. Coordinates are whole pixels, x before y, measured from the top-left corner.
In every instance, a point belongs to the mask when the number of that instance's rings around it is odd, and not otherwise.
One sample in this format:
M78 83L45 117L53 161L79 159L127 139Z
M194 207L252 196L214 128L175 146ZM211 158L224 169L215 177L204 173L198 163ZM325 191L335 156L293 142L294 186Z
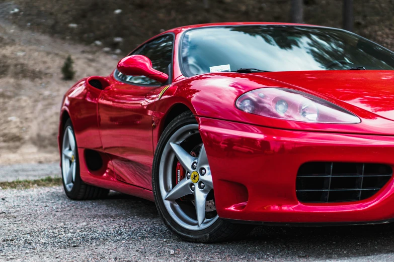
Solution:
M160 215L179 237L195 242L229 240L252 227L219 218L207 153L191 112L164 130L152 168L152 188Z

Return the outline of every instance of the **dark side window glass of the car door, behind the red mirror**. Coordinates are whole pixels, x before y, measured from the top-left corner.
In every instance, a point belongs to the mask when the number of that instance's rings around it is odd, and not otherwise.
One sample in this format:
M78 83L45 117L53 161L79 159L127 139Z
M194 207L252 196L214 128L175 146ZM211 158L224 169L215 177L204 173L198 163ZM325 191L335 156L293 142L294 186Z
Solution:
M165 35L156 38L149 43L138 48L136 51L130 55L143 55L152 61L152 66L154 69L164 72L170 76L170 68L172 64L173 57L173 35ZM115 78L119 81L128 84L139 84L139 85L153 85L160 86L162 83L159 81L150 79L146 76L131 76L124 75L118 70L115 70ZM170 76L171 77L171 76Z

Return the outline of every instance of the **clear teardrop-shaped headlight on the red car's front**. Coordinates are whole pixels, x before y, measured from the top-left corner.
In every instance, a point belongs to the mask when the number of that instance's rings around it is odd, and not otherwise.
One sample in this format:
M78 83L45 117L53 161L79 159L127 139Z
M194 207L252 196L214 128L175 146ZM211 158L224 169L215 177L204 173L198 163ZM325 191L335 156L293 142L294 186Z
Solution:
M359 123L353 113L322 98L287 88L261 88L241 95L235 106L267 117L316 123Z

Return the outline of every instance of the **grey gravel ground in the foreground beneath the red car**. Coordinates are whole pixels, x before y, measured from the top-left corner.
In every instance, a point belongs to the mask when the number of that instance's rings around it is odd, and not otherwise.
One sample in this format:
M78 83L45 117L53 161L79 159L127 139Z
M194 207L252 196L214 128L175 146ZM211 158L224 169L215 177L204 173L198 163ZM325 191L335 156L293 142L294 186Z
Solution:
M111 192L71 201L61 187L0 190L0 261L394 260L394 225L258 227L245 239L184 242L153 203Z

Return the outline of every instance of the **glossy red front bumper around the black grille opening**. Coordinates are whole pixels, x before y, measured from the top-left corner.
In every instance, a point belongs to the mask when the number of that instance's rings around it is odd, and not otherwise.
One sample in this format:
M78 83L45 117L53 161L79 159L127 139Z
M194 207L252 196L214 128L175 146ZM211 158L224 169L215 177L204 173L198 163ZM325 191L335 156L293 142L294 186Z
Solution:
M281 223L359 223L394 218L391 178L356 202L300 203L298 168L306 162L379 163L394 169L394 137L267 128L199 117L219 217Z

